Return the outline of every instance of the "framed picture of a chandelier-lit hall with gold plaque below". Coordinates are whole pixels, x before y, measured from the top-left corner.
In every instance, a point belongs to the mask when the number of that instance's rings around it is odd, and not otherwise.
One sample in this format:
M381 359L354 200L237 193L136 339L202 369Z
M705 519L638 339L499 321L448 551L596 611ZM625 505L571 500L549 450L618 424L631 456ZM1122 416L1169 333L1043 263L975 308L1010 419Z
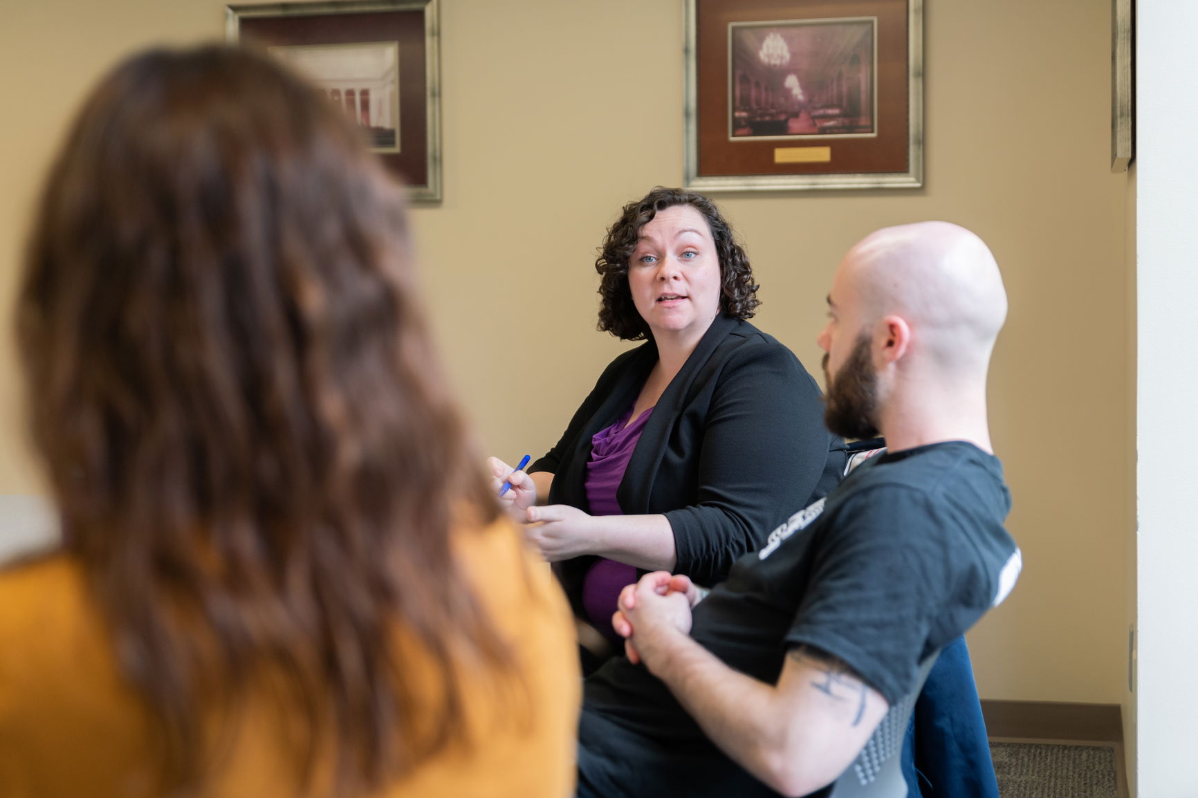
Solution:
M922 186L922 0L686 0L685 24L688 188Z

